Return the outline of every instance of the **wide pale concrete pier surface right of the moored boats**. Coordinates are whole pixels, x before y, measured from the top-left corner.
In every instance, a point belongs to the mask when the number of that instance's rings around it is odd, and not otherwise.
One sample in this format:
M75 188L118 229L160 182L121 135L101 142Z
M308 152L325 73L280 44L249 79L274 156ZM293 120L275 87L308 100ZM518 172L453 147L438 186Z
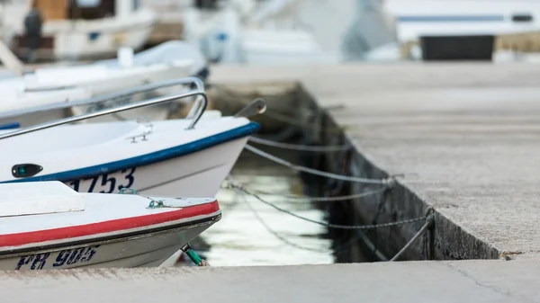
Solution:
M320 107L342 105L329 119L354 143L360 175L404 174L380 222L418 218L433 207L437 259L540 250L536 64L217 67L211 79L296 81ZM356 203L362 221L371 221L379 203ZM419 226L378 231L392 239L379 249L392 257ZM423 259L422 246L411 247L405 259Z

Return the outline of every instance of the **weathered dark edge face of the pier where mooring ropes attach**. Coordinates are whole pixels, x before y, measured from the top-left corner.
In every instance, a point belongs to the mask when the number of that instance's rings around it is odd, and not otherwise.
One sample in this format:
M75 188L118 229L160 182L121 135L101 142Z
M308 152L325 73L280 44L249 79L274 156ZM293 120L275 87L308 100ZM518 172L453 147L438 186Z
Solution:
M304 85L301 84L298 87L301 91L299 96L303 99L301 103L311 102L316 107L321 107L320 102L318 102L313 94L307 91ZM332 117L331 111L325 112L323 120L320 123L321 125L311 129L311 134L309 135L311 138L317 138L317 133L321 133L321 136L319 136L320 142L325 145L338 146L348 143L355 147L351 167L349 167L348 171L350 175L370 179L391 177L391 174L376 164L376 157L363 150L362 146L352 138L347 131L347 126L339 125L336 119ZM320 132L320 129L322 129L322 132ZM325 132L325 129L330 129L330 132ZM343 129L343 136L336 136L335 129ZM335 158L336 156L341 155L329 153L327 155L326 166L334 174L344 174L343 171L339 171L336 167L336 164L340 161L340 159ZM385 196L384 201L377 201L378 197L365 197L351 201L351 210L355 212L356 224L392 222L425 216L428 209L433 208L434 205L430 204L428 199L420 198L418 192L401 183L401 179L406 177L406 173L402 177L395 177L396 183L390 190L390 194ZM364 184L353 183L350 185L349 191L341 192L340 194L352 195L363 192L365 189L366 186ZM383 213L383 217L379 214L379 219L372 221L375 214L374 209L379 208L380 204L386 207L386 211ZM428 253L434 254L437 260L496 259L500 257L501 252L495 247L471 235L464 227L460 227L451 219L446 218L445 215L438 212L437 208L434 210L436 218L435 227L433 228L435 231L435 252L426 251L428 237L425 236L417 240L414 245L411 245L401 258L405 260L427 260ZM378 246L376 248L383 255L387 256L387 258L392 257L400 251L401 247L410 241L410 238L416 235L422 225L423 222L418 222L376 230L377 237L389 239L389 242L385 243L383 247Z

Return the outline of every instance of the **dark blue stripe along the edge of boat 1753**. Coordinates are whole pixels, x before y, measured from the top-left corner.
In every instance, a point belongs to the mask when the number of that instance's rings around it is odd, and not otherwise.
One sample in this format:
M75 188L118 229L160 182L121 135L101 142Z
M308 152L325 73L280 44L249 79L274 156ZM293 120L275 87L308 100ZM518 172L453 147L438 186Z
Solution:
M190 142L177 147L166 148L157 152L153 152L147 155L134 156L129 159L119 160L103 165L94 165L84 168L75 169L72 171L45 174L41 176L34 176L31 178L17 179L4 181L0 183L20 183L20 182L36 182L36 181L61 181L67 182L78 179L85 179L99 174L107 174L112 172L129 169L131 167L139 167L144 165L151 165L157 162L166 161L177 156L185 156L193 154L202 149L215 147L222 143L226 143L238 138L244 138L257 132L259 129L257 122L249 122L249 124L239 127L237 129L230 129L217 135L213 135L207 138L201 138L196 141ZM40 164L41 165L41 164Z

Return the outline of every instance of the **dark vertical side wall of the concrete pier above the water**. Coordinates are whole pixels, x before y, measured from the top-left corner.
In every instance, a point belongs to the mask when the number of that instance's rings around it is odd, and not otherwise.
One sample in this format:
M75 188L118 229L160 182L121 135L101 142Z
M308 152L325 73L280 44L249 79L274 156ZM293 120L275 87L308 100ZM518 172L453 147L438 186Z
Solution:
M298 93L301 103L315 104L309 92L300 85ZM311 129L306 134L311 138L320 140L323 145L345 145L351 143L351 138L337 135L339 129L336 121L329 115L324 114L317 121L320 125ZM320 131L320 129L323 129ZM321 135L319 135L321 134ZM328 153L324 155L324 165L321 170L335 174L354 175L370 179L383 179L389 176L379 168L371 156L358 147L348 153ZM345 169L344 169L344 165ZM366 186L362 183L343 183L337 195L351 195L358 192L373 190L373 185ZM423 201L417 193L411 191L399 182L391 190L383 194L370 195L354 201L343 202L351 216L350 222L354 225L381 224L409 218L426 216L429 205ZM420 236L410 248L401 255L400 260L464 260L464 259L496 259L499 257L497 249L472 236L463 227L459 227L440 213L435 213L435 227L431 232ZM391 259L410 239L417 234L424 221L404 224L397 227L381 227L366 233L367 239L357 241L348 252L351 262L384 261ZM355 236L355 235L351 235ZM432 242L430 242L432 241ZM374 250L377 254L374 254Z

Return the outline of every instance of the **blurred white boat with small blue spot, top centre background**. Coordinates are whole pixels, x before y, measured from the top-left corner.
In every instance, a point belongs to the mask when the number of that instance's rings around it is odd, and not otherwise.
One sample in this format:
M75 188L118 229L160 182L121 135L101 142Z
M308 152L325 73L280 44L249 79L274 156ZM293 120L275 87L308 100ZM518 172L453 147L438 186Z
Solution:
M196 10L186 10L186 40L203 43L208 58L222 64L292 65L336 63L315 37L299 29L251 29L240 14L225 8L211 22L203 22ZM202 46L202 44L201 44Z

